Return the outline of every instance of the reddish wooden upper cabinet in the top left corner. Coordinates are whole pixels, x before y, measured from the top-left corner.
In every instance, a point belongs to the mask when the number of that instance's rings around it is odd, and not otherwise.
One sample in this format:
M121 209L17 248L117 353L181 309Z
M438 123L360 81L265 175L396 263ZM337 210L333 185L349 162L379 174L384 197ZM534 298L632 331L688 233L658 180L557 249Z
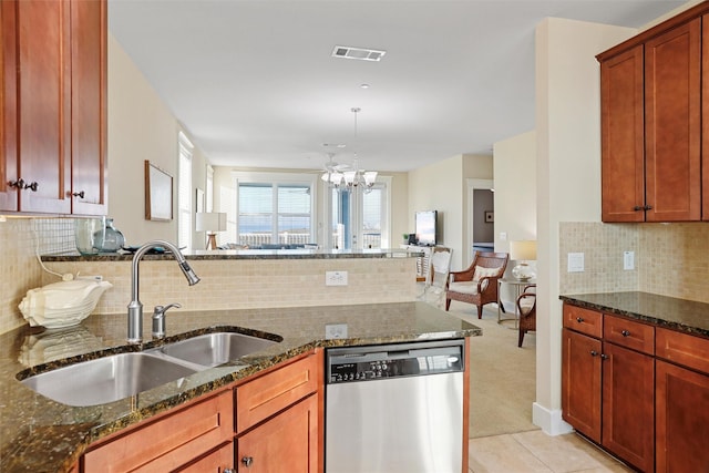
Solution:
M0 210L104 214L106 2L1 6Z

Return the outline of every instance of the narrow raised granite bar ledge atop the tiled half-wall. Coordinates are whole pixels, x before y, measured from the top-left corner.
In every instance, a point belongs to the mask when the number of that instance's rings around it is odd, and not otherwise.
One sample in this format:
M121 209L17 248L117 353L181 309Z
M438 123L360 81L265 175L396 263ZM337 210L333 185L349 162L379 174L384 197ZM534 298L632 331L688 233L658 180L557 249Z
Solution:
M341 258L415 258L423 256L423 250L407 249L195 249L184 250L182 254L191 260L220 259L341 259ZM80 255L79 253L63 255L42 255L42 261L130 261L133 254L100 253L97 255ZM142 260L173 259L169 253L147 253Z

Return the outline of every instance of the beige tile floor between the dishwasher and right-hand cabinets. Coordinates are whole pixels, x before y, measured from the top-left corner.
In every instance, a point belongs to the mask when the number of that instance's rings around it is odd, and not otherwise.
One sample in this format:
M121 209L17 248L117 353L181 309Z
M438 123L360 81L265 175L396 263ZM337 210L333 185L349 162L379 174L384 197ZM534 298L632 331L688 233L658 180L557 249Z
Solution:
M470 473L633 472L583 438L541 430L471 439Z

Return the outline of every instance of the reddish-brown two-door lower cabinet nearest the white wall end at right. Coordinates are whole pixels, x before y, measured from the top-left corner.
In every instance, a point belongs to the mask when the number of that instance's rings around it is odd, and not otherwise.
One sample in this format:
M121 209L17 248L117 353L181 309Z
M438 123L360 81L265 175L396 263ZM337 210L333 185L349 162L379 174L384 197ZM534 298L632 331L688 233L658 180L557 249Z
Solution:
M565 306L565 312L577 310ZM649 326L603 316L603 339L579 333L578 317L564 317L562 417L578 432L633 466L651 472L655 464L655 359L634 348L653 346ZM595 333L600 332L594 330ZM627 341L626 341L627 340Z

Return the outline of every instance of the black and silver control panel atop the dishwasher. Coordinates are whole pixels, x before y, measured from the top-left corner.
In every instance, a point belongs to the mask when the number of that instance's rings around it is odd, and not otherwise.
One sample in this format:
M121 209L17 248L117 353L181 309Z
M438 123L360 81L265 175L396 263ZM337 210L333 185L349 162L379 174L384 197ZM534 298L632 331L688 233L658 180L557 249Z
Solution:
M328 350L327 382L341 383L463 371L462 343L405 343Z

